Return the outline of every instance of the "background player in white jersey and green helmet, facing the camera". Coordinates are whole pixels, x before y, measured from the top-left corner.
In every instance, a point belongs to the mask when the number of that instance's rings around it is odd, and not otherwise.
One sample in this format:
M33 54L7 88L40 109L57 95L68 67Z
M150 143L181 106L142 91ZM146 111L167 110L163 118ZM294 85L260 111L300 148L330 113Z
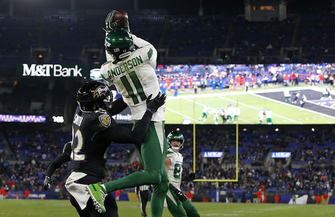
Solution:
M165 168L170 181L170 189L167 191L167 208L173 217L200 217L197 208L180 191L181 181L190 181L196 179L195 173L190 173L182 177L183 155L179 153L184 147L184 136L179 131L171 131L167 135L167 158Z

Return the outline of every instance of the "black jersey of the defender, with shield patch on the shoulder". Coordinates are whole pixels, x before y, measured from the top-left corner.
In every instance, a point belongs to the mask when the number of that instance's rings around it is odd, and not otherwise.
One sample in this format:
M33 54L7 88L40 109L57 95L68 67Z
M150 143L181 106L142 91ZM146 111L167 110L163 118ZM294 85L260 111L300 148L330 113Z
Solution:
M95 136L115 127L116 121L105 110L82 111L77 107L72 122L71 166L75 172L83 172L103 179L106 174L106 155L110 140L94 140Z

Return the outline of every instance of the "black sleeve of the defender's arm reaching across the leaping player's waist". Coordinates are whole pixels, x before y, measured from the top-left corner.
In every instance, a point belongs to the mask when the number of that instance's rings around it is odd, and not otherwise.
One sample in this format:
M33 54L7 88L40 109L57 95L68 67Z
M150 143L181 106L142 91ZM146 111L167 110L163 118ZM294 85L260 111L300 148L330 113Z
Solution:
M133 130L116 125L115 127L108 128L107 130L100 132L96 136L96 139L108 139L112 142L121 144L140 143L144 138L145 133L148 131L151 117L152 113L150 111L146 111Z

